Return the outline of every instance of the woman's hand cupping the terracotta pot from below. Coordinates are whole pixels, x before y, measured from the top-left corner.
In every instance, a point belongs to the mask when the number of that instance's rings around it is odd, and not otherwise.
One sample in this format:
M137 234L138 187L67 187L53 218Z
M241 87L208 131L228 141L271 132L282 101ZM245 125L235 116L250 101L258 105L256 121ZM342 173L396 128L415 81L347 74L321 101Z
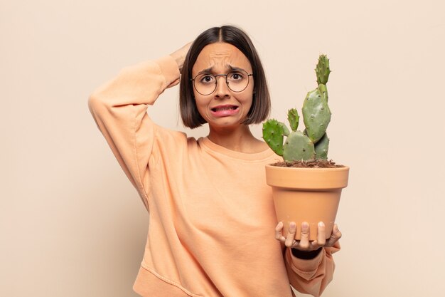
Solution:
M314 241L309 241L309 224L306 222L301 224L301 230L296 230L296 224L294 222L289 223L289 232L286 236L282 234L283 228L283 222L279 222L275 227L275 238L286 247L300 251L315 251L321 247L333 246L338 239L341 238L341 231L338 230L337 224L333 226L331 237L326 239L325 225L323 222L319 222L317 226L317 239ZM301 233L300 240L295 239L297 231Z

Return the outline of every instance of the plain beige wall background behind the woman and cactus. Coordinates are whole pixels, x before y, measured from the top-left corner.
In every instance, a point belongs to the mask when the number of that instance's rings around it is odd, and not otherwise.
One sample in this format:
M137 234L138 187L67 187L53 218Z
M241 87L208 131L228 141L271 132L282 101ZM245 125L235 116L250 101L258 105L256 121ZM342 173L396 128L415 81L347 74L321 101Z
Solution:
M148 214L87 97L223 24L252 36L280 120L315 87L318 54L331 58L330 157L351 171L323 296L441 296L444 11L441 0L1 0L0 296L136 296ZM166 91L152 118L182 130L177 99Z

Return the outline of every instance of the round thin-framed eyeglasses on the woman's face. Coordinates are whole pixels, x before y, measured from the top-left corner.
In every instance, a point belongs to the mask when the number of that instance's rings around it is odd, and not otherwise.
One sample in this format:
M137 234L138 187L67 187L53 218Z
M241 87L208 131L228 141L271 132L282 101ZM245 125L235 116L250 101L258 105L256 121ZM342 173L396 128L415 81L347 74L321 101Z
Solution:
M240 93L247 88L247 85L249 85L250 76L253 76L253 74L248 74L244 70L231 71L227 74L218 75L200 73L192 79L193 86L201 95L210 95L216 90L218 76L225 76L225 83L227 83L227 87L229 87L232 92Z

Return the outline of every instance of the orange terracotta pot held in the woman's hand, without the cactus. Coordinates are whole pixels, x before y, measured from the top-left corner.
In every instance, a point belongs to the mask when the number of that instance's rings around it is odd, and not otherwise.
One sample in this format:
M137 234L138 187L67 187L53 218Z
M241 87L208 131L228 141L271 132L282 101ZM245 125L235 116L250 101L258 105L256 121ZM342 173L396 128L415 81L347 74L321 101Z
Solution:
M316 239L318 222L326 225L326 239L331 237L336 220L341 189L348 185L349 167L293 168L266 165L266 180L272 186L278 222L296 223L300 239L301 223L310 226L309 240Z

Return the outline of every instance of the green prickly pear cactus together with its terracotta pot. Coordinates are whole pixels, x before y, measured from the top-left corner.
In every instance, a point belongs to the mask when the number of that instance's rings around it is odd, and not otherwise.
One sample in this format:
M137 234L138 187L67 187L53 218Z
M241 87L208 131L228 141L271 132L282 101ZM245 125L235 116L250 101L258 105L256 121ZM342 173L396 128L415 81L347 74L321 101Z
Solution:
M309 240L316 239L313 230L317 229L318 222L325 223L326 237L331 236L341 190L348 185L349 173L349 167L327 160L326 128L331 121L331 110L326 83L331 70L326 55L318 58L315 71L318 86L306 95L302 108L305 129L297 130L299 113L292 108L288 111L291 130L274 119L263 123L262 130L264 141L284 160L266 166L277 219L284 223L284 234L289 222L295 222L297 230L302 222L308 222ZM296 239L300 239L299 236L297 232Z

